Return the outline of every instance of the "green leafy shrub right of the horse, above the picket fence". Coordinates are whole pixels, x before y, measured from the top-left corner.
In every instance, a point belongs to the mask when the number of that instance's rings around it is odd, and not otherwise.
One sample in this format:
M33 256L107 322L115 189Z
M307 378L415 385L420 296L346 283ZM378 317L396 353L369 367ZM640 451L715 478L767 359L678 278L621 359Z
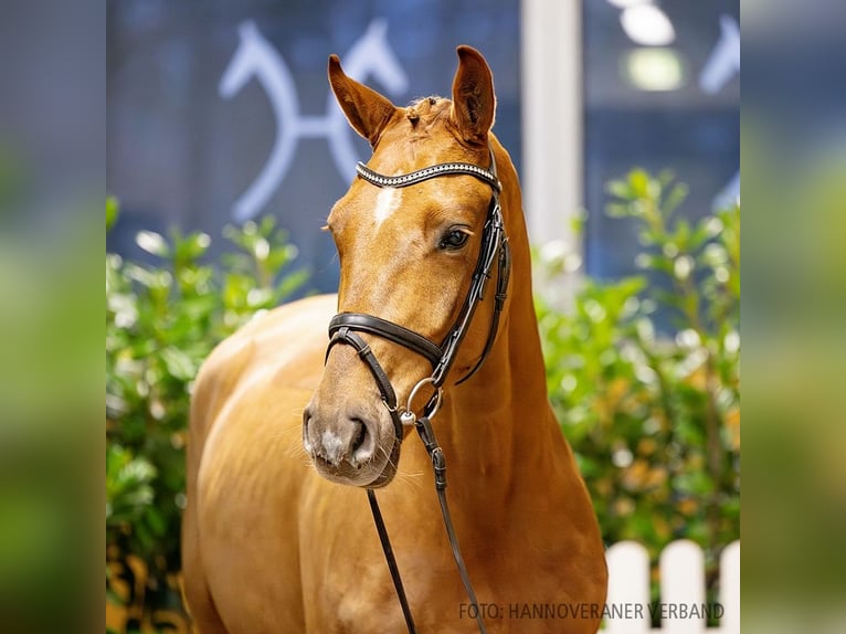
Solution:
M645 274L574 279L574 253L539 252L550 398L605 542L636 540L654 560L691 539L712 582L740 537L740 208L690 224L674 214L685 187L641 170L607 191L607 212L637 225ZM550 299L562 285L578 286L567 309ZM659 307L675 336L658 331Z

